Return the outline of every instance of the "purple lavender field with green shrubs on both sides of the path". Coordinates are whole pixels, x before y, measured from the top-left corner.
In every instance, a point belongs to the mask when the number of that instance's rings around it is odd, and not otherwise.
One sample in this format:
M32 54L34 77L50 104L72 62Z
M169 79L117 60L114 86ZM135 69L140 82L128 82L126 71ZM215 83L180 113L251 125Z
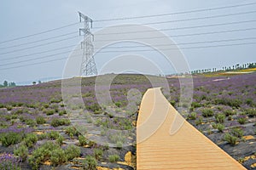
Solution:
M115 77L110 94L115 111L125 115L117 117L98 105L95 79L82 80L84 107L67 105L62 100L61 81L0 89L0 169L136 169L137 110L142 95L152 85L142 75ZM159 86L162 79L154 77ZM194 96L189 111L181 109L189 104L179 103L179 79L167 81L171 96L166 98L177 111L182 111L192 125L247 169L256 167L255 73L193 77ZM131 89L137 91L127 99ZM127 107L130 100L135 101L135 110ZM82 115L89 111L91 118L82 124L85 134L73 127L70 114L75 111ZM131 133L126 139L124 134L109 133L108 129ZM104 136L114 146L98 144L91 136Z

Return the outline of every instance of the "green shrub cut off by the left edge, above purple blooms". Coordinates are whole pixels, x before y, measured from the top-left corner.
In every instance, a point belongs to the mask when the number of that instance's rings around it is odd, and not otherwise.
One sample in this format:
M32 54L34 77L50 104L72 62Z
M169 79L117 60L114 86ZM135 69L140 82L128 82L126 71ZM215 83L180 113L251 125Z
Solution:
M6 146L6 147L11 144L18 144L23 139L22 136L23 136L22 133L14 133L14 132L2 133L1 142L3 146Z

